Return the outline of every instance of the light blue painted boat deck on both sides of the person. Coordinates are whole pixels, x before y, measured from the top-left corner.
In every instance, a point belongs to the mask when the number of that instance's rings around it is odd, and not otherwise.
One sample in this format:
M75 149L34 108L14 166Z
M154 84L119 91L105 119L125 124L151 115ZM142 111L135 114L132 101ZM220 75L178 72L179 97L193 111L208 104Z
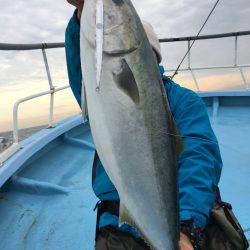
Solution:
M222 197L232 203L249 239L249 106L222 106L216 112L208 107L208 112L224 161ZM79 117L67 122L70 119ZM36 143L37 138L52 131L47 129L26 139L22 150L25 144ZM16 153L16 161L22 150ZM97 201L91 189L93 157L88 125L61 131L37 149L1 189L0 249L93 249L93 208ZM8 161L2 168L7 165Z

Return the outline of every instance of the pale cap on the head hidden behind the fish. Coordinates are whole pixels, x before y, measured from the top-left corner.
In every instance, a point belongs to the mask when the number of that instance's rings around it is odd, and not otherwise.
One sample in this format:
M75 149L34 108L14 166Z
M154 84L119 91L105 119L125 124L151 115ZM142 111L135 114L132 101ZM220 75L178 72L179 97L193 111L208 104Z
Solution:
M148 40L149 40L152 48L156 52L158 63L160 63L162 60L161 44L160 44L158 37L154 31L154 28L152 27L152 25L150 23L148 23L146 21L142 21L142 25L144 27L144 30L147 34Z

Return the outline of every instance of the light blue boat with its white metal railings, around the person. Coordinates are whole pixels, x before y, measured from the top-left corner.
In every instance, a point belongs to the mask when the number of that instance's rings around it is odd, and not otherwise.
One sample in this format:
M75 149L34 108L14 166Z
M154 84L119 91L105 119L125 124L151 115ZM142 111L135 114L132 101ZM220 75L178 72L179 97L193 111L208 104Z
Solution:
M189 71L199 90L195 71L213 68L237 69L245 90L197 93L204 100L218 137L224 168L220 188L223 200L233 205L248 240L250 239L250 90L243 69L237 63L237 37L250 31L201 36L200 40L235 39L233 65L192 68ZM161 39L161 42L190 41L194 37ZM92 162L95 147L88 122L81 115L53 122L54 94L68 88L55 88L50 77L46 49L63 43L15 45L0 44L0 50L42 50L47 71L48 91L17 100L13 109L13 144L0 154L0 249L94 249L97 202L92 191ZM171 70L168 70L171 71ZM21 140L18 107L39 96L50 95L48 128Z

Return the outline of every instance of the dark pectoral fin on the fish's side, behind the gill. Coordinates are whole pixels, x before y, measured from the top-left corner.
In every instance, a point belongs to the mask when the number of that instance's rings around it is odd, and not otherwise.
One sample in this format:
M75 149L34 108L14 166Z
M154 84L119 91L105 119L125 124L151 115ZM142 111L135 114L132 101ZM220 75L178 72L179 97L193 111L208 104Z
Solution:
M117 86L129 96L135 104L139 104L140 96L138 86L132 70L125 59L121 60L121 66L113 71Z

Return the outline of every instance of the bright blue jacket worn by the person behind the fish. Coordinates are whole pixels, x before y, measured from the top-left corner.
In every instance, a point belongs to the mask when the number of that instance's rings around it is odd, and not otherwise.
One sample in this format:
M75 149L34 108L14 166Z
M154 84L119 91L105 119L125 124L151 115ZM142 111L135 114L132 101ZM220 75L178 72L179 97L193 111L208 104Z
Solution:
M80 26L74 15L66 29L66 59L70 86L80 105L82 72L79 34ZM163 75L163 67L159 68ZM165 90L179 133L184 136L185 147L178 161L180 220L193 219L196 226L203 228L209 220L210 209L215 201L215 187L221 175L219 146L202 99L170 79L166 81ZM119 200L100 161L95 176L93 189L99 199ZM104 214L100 223L103 226L114 225L117 224L117 218Z

